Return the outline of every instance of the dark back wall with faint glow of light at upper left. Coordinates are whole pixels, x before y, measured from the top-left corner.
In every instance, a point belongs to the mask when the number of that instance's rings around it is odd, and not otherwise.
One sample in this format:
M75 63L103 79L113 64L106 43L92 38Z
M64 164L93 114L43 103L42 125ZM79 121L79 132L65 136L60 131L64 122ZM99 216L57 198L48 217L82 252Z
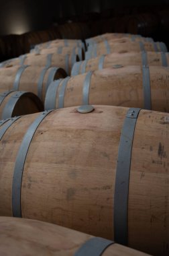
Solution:
M88 12L100 12L125 5L161 5L169 0L1 0L0 34L22 34L48 28L58 18L68 18Z

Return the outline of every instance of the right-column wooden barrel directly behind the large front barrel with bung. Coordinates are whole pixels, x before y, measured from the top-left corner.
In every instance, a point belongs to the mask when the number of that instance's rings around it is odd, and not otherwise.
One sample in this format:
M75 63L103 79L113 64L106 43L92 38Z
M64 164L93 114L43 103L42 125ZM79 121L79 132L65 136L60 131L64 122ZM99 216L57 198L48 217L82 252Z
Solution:
M169 112L168 84L168 67L115 65L52 82L45 110L101 104Z

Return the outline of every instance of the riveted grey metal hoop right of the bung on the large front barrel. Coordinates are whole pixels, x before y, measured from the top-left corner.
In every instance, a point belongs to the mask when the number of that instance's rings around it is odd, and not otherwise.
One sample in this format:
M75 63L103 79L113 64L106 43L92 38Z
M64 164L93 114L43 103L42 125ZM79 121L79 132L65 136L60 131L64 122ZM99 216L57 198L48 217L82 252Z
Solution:
M128 243L128 194L131 152L137 117L140 108L129 108L121 130L114 193L114 237L121 245Z

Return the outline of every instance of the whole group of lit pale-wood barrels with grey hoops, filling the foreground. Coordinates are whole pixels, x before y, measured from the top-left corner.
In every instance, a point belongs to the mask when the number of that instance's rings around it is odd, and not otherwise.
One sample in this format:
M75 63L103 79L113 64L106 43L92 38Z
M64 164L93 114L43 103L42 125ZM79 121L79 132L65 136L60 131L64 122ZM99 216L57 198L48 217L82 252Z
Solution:
M1 63L1 112L25 91L45 111L30 98L1 115L0 216L34 221L0 218L0 250L168 255L168 63L163 42L131 34L53 40Z

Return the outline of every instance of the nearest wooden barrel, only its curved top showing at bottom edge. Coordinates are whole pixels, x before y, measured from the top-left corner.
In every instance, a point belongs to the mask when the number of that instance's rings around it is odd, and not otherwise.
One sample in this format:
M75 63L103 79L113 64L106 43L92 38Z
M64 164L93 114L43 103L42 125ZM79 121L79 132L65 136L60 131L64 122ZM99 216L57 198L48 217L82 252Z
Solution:
M0 229L0 254L5 256L148 255L105 238L38 220L0 217Z

